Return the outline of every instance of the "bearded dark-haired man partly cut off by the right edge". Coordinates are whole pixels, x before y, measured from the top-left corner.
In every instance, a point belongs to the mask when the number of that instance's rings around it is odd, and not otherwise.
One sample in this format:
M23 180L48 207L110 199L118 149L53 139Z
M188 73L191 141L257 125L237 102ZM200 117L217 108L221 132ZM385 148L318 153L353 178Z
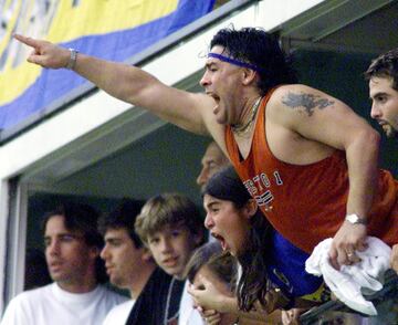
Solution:
M398 49L375 59L365 72L369 81L370 116L387 137L398 138ZM392 247L391 268L398 273L398 244Z

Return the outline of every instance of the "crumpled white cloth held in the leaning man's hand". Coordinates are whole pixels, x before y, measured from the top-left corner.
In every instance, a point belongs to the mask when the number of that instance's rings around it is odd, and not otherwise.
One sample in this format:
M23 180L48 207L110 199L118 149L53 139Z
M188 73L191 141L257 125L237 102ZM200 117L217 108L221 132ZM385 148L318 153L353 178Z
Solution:
M377 315L374 304L366 301L363 293L371 294L383 289L391 249L381 240L368 237L366 251L355 252L362 261L343 265L337 271L329 263L331 244L331 238L317 244L305 262L305 271L317 276L323 275L332 292L350 308L367 315Z

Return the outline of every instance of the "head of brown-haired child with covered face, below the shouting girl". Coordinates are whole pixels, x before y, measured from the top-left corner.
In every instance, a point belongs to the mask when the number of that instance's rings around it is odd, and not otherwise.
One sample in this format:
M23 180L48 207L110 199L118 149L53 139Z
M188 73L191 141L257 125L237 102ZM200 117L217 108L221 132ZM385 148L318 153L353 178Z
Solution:
M237 262L229 253L223 253L219 242L209 242L195 251L186 268L186 276L197 290L206 290L210 282L226 296L234 295ZM232 324L235 315L222 314L219 324Z

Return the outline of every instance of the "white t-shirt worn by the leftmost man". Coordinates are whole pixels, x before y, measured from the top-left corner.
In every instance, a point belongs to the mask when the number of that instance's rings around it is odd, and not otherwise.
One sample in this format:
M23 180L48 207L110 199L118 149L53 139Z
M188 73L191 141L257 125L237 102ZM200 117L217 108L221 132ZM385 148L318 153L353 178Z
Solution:
M127 297L98 285L75 294L56 283L15 296L8 305L1 325L98 325L115 305Z

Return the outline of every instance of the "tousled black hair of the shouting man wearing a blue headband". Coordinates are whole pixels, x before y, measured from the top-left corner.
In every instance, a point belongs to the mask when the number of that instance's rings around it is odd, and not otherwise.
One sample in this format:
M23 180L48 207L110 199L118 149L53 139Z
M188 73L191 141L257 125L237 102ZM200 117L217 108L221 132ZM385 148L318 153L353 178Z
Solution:
M220 30L211 40L210 49L223 46L229 56L260 69L258 87L261 95L280 84L297 83L297 77L283 53L277 36L260 28L233 27Z

